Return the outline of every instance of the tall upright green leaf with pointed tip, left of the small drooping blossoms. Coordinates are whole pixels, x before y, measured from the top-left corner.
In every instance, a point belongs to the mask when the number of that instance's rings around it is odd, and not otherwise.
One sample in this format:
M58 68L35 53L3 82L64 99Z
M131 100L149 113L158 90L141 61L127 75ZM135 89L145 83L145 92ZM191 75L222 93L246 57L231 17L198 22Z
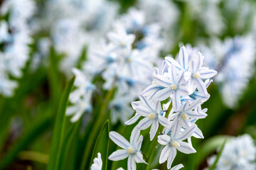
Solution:
M58 113L55 120L55 125L53 129L53 140L50 147L50 159L47 166L48 170L58 170L60 168L60 157L62 154L62 147L64 142L64 133L65 133L65 110L68 104L68 97L70 95L70 91L74 84L75 77L68 81L68 84L65 86L65 90L63 92L63 96L60 100L60 105L58 108Z

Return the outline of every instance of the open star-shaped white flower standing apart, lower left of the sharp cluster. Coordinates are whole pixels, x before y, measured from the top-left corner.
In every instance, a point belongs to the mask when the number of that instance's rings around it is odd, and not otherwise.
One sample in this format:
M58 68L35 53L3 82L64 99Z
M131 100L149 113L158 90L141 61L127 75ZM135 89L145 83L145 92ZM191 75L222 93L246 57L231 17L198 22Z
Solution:
M108 159L112 161L119 161L128 157L128 170L136 169L136 163L146 164L140 151L142 147L143 136L140 135L140 130L137 127L132 130L130 142L125 140L124 137L119 135L119 133L113 131L110 132L110 139L119 147L122 147L122 149L119 149L110 154Z

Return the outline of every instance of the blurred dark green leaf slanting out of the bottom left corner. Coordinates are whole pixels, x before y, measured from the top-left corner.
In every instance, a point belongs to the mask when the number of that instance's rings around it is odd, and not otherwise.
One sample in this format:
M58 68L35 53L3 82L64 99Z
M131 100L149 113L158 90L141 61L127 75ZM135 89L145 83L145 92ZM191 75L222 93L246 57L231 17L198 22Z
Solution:
M43 118L34 122L34 125L31 125L31 128L26 132L23 137L18 140L16 145L12 147L9 152L1 159L0 169L4 169L8 166L17 156L18 152L25 149L33 140L36 139L42 132L45 132L50 126L51 119Z

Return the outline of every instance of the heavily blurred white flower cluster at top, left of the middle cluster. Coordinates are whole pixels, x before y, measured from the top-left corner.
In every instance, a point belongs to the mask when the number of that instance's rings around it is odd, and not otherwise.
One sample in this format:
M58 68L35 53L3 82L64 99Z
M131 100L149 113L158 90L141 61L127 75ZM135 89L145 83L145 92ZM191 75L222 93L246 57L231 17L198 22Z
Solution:
M70 76L86 45L110 29L119 6L105 0L47 0L34 19L36 33L48 33L58 53L65 55L60 71Z

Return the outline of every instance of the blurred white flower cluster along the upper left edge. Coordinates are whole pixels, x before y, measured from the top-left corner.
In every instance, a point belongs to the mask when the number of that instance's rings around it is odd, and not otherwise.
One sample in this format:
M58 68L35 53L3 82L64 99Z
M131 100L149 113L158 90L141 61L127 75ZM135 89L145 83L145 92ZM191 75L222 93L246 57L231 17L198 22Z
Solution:
M28 60L28 44L32 41L28 21L34 11L35 4L31 0L9 0L1 5L1 16L8 17L9 21L0 21L0 94L4 96L12 96L18 86L9 76L21 77L21 69Z

